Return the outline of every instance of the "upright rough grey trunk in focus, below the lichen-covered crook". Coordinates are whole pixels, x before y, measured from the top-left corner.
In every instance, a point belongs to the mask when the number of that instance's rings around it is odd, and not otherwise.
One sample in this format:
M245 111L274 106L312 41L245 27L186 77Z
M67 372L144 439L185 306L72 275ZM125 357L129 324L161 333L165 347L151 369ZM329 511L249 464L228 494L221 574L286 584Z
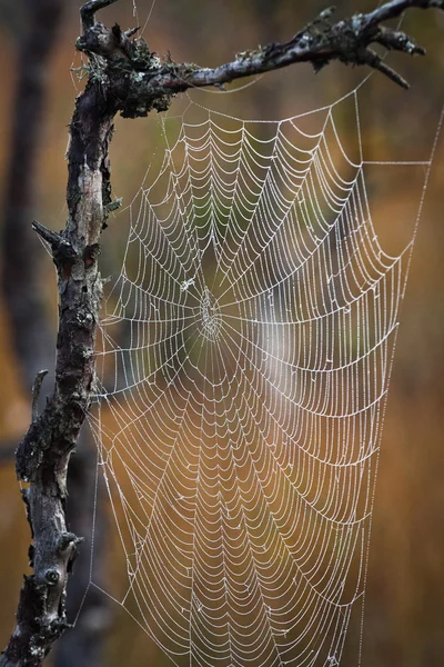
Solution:
M79 539L65 526L67 469L89 409L101 300L99 237L109 203L108 148L115 107L93 83L75 104L69 151L69 220L54 233L34 223L52 248L59 276L56 381L47 406L17 451L33 546L33 575L20 594L17 627L2 665L41 665L67 627L64 595Z

